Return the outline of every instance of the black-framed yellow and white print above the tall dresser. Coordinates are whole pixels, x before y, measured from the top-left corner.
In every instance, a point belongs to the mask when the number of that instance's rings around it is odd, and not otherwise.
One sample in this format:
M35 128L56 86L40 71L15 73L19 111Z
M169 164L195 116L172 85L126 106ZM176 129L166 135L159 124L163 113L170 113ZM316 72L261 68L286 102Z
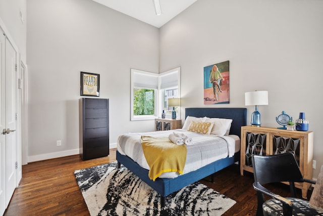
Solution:
M81 96L100 96L100 74L81 71Z

